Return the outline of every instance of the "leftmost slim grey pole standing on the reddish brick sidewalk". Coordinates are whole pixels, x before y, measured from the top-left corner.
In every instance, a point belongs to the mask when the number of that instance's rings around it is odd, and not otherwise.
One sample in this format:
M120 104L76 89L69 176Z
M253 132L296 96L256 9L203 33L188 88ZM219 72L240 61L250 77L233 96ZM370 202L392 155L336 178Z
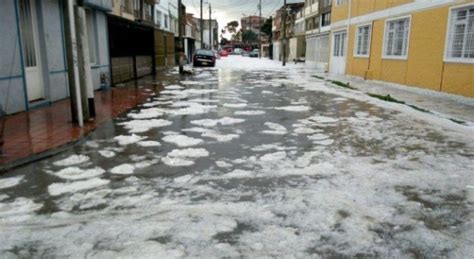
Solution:
M64 24L66 36L67 67L69 80L69 94L71 100L71 114L73 122L84 127L82 115L81 90L79 80L79 67L77 58L76 25L74 20L74 0L67 0L64 5Z

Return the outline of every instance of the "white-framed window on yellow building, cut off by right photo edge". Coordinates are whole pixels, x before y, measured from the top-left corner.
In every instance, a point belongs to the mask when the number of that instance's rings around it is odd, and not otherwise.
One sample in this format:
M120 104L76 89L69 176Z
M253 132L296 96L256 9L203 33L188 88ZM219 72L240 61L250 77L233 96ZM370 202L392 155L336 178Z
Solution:
M446 60L474 63L474 5L451 10Z

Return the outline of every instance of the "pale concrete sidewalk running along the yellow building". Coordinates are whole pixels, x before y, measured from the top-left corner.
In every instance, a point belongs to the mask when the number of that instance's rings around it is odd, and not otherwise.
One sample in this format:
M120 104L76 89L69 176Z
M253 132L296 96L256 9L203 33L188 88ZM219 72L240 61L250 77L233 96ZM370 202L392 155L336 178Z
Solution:
M326 79L350 83L351 87L364 93L390 95L408 105L428 110L440 117L466 121L474 125L474 98L463 97L445 92L437 92L414 86L398 85L361 78L317 73Z

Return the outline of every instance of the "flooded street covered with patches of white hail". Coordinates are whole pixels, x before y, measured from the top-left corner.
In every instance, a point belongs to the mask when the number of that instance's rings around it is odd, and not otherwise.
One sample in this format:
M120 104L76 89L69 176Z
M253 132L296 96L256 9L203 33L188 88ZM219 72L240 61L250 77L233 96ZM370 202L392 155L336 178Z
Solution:
M194 70L165 72L84 143L0 176L0 257L474 254L472 125L302 64Z

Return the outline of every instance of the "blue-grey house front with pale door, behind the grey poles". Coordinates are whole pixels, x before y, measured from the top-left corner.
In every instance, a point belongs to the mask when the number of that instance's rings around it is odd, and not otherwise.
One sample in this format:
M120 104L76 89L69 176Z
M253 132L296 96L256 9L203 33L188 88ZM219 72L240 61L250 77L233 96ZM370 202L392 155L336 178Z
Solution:
M0 8L0 116L69 96L65 1L5 0ZM94 89L109 84L107 16L111 0L85 0Z

